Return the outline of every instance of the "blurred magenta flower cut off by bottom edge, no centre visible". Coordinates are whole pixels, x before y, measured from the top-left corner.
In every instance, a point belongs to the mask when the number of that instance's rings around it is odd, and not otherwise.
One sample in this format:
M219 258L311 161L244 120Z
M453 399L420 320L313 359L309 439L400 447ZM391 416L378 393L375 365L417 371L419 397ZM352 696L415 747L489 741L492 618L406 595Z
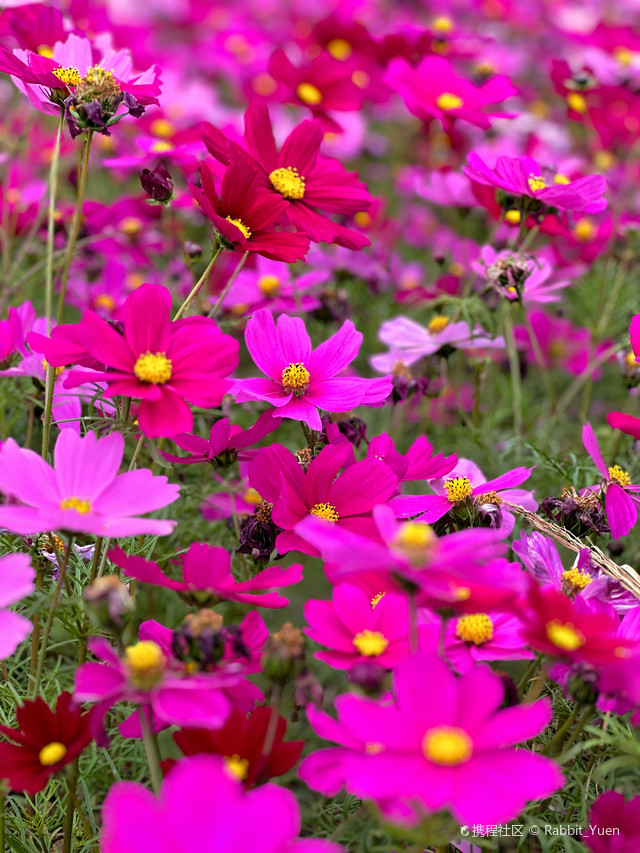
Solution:
M278 785L245 793L222 756L181 759L158 799L137 782L117 782L103 819L102 853L344 853L330 841L297 841L295 796Z

